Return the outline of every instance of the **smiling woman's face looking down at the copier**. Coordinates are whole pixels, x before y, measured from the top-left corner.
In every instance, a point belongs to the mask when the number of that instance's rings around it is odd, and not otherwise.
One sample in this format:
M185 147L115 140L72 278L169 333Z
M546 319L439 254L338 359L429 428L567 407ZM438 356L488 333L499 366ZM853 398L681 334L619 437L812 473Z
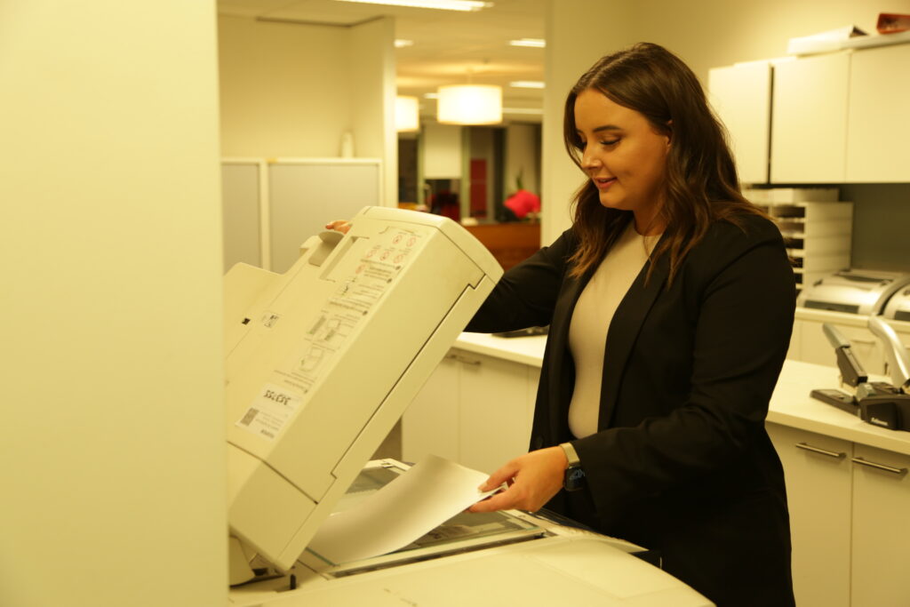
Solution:
M591 88L575 98L575 128L581 169L600 192L601 204L632 211L641 233L662 229L651 221L660 208L670 137L655 131L642 114Z

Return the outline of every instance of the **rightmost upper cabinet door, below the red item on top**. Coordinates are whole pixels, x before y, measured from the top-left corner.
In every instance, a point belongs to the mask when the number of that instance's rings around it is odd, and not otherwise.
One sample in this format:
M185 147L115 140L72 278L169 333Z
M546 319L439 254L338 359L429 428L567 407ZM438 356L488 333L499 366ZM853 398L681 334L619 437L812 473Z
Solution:
M856 51L851 64L847 181L910 181L910 45Z

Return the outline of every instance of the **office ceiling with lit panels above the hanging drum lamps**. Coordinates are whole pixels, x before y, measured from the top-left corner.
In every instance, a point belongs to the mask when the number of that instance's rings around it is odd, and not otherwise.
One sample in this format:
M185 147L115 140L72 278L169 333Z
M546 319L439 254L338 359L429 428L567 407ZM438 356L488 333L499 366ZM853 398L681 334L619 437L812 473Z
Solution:
M543 49L510 46L519 38L543 38L546 0L492 0L480 11L367 5L336 0L217 0L221 15L310 24L358 25L380 16L395 19L395 37L413 41L396 48L399 95L420 97L430 116L434 101L424 97L440 85L502 86L504 119L540 121L543 91L515 88L516 80L543 80Z

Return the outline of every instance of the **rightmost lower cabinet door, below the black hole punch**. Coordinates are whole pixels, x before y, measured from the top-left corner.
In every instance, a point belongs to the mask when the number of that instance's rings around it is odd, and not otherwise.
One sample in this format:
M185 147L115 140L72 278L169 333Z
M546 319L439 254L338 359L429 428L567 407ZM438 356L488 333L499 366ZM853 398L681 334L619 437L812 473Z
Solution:
M908 469L910 456L855 446L853 604L857 607L910 605Z

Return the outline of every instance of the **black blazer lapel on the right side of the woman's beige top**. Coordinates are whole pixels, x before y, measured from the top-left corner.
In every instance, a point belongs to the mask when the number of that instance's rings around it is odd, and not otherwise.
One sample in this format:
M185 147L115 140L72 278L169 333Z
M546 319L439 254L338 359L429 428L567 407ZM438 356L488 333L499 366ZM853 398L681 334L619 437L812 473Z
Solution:
M601 384L601 410L597 423L598 430L605 430L612 424L613 410L619 396L622 374L625 371L632 346L638 338L642 323L651 311L654 300L663 290L670 268L667 255L657 261L651 278L645 284L645 277L651 261L644 264L632 287L622 298L613 314L603 357L603 378Z

